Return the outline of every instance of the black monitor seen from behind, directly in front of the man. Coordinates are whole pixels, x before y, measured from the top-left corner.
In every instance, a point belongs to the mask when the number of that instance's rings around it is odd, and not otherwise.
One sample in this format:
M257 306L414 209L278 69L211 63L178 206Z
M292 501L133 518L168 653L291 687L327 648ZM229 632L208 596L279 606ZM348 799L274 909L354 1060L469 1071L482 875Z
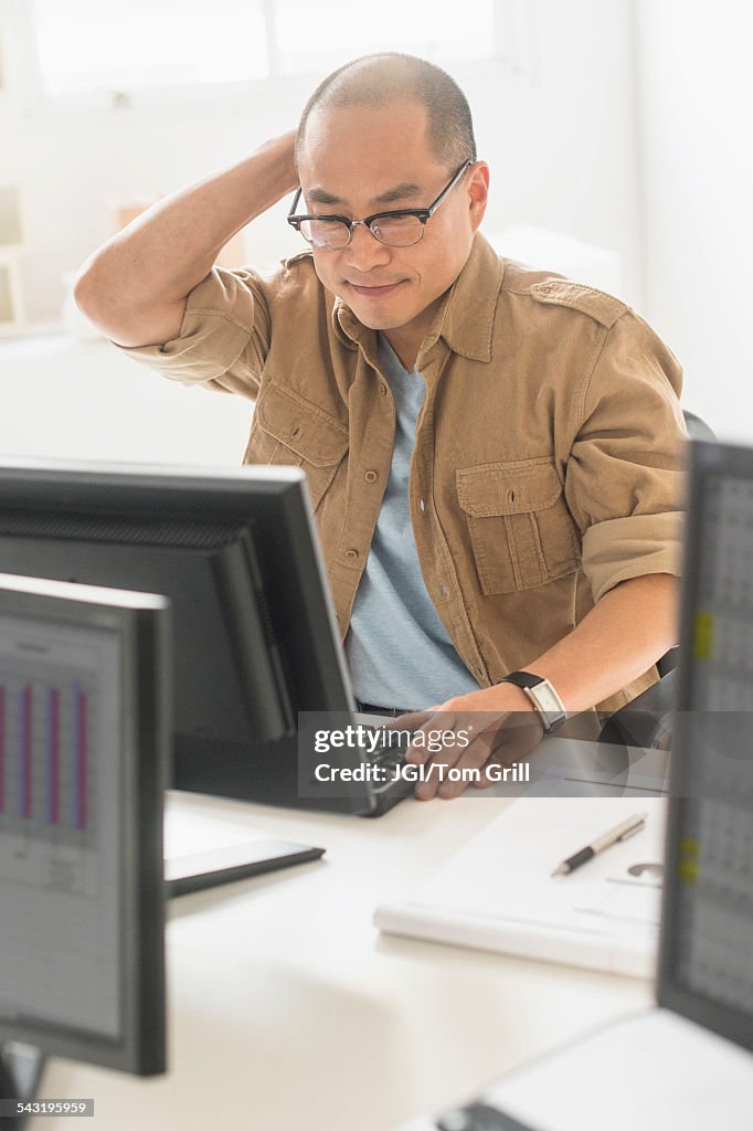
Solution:
M297 713L353 697L298 468L1 460L0 569L170 598L175 787L364 810L300 796Z

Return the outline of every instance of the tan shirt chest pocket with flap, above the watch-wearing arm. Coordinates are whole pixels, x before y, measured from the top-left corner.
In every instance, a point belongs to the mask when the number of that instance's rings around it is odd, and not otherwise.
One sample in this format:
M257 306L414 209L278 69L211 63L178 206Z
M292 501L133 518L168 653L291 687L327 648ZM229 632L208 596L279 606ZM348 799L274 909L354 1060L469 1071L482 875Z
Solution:
M483 593L533 589L578 568L580 538L551 459L462 467L456 481Z

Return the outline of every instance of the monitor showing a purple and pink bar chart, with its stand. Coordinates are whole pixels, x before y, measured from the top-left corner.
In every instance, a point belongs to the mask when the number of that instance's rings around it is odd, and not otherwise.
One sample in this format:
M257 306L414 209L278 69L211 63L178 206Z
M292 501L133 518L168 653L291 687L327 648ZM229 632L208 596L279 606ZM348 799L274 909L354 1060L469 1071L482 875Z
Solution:
M165 1071L168 614L0 575L2 1126L44 1056Z

